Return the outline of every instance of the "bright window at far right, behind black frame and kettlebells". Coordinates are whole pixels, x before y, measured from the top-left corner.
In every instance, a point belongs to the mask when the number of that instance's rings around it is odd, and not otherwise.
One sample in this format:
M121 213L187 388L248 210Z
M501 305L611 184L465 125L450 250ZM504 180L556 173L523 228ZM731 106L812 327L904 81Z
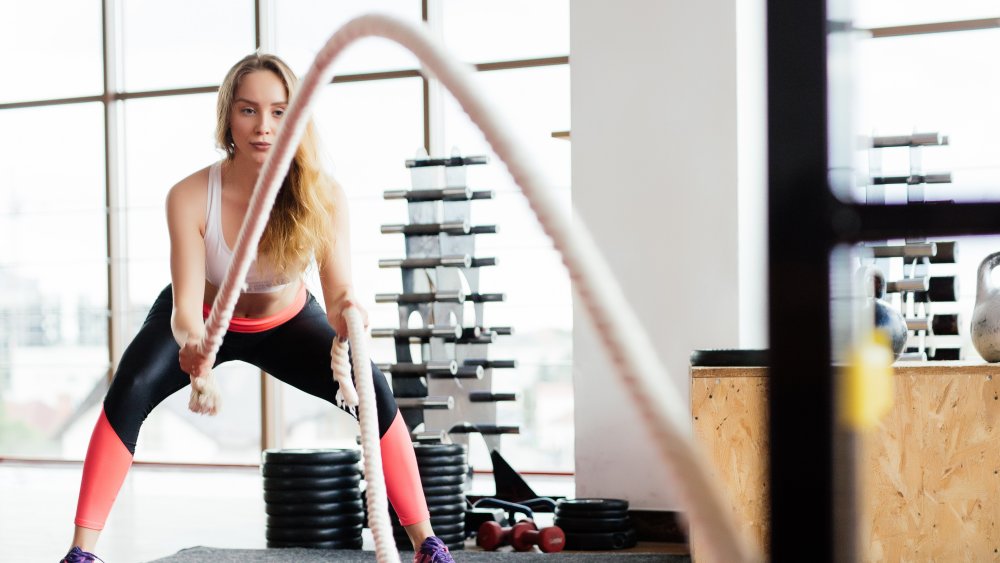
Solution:
M1000 16L996 2L859 2L856 24L871 29L860 42L856 78L858 121L868 135L937 132L945 146L880 149L874 162L884 176L907 176L911 166L926 173L950 172L952 181L925 185L931 201L1000 200L1000 71L993 54L1000 29L977 21ZM970 21L971 20L971 21ZM948 25L941 25L948 22ZM945 31L955 30L955 31ZM917 159L919 157L919 160ZM905 184L886 186L889 203L906 202ZM952 239L953 240L953 239ZM901 242L901 241L900 241ZM978 359L969 337L976 296L976 269L1000 245L998 237L958 241L958 261L935 265L934 275L955 275L955 304L935 303L936 314L958 313L962 336L936 336L946 347L961 347Z

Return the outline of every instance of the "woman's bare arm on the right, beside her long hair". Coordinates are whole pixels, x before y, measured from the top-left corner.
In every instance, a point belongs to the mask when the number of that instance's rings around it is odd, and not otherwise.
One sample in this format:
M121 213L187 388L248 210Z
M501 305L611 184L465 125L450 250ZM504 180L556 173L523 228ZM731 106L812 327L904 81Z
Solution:
M347 337L347 321L343 312L354 306L364 318L368 328L368 312L354 298L351 278L351 223L347 210L347 196L336 182L333 183L334 211L330 217L328 240L333 243L323 256L317 256L319 281L323 288L326 316L337 335Z

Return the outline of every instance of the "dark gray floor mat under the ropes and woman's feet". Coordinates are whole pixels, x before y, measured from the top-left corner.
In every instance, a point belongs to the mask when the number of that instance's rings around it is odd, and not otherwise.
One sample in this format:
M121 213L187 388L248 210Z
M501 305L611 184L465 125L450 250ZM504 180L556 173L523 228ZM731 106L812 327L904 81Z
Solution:
M510 548L508 548L510 549ZM686 555L667 555L662 553L621 553L603 551L595 553L518 553L516 551L456 551L453 552L456 563L464 561L514 561L534 558L575 561L607 561L608 559L625 560L628 563L690 563ZM411 561L413 552L401 552L400 560ZM343 563L369 563L375 561L375 552L341 550L341 549L304 549L290 547L286 549L218 549L214 547L191 547L183 549L170 557L157 559L151 563L314 563L319 561L337 561ZM541 563L541 560L539 560Z

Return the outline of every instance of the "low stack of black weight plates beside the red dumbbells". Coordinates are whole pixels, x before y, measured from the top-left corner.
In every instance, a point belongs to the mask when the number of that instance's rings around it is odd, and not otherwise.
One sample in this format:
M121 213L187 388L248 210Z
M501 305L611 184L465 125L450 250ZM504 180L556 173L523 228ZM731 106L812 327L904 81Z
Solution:
M628 501L584 498L560 501L554 524L566 532L568 550L609 550L634 547L635 528Z

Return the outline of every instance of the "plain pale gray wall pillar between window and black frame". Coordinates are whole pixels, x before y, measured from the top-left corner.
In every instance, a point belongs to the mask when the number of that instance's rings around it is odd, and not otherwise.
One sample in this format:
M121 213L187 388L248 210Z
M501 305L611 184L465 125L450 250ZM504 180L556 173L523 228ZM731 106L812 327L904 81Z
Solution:
M738 88L736 4L571 4L573 203L685 404L691 350L764 338L763 319L754 318L765 310L764 265L759 256L740 262L741 237L763 245L765 203L762 161L741 165L738 151L755 127L762 134L763 118L744 120L742 129L737 119L746 89ZM755 95L744 91L745 109L763 108ZM742 211L741 179L756 190ZM578 307L575 315L577 496L676 508L651 435L585 314Z

